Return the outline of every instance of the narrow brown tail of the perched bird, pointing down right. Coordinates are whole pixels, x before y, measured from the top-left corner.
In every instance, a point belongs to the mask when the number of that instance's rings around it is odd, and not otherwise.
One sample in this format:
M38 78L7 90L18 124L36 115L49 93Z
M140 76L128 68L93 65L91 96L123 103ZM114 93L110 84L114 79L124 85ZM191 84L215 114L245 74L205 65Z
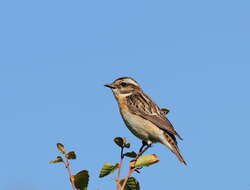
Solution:
M186 161L184 160L183 156L180 153L175 137L172 134L168 133L164 133L164 135L165 135L165 141L163 142L163 144L166 145L177 156L180 162L187 165Z

